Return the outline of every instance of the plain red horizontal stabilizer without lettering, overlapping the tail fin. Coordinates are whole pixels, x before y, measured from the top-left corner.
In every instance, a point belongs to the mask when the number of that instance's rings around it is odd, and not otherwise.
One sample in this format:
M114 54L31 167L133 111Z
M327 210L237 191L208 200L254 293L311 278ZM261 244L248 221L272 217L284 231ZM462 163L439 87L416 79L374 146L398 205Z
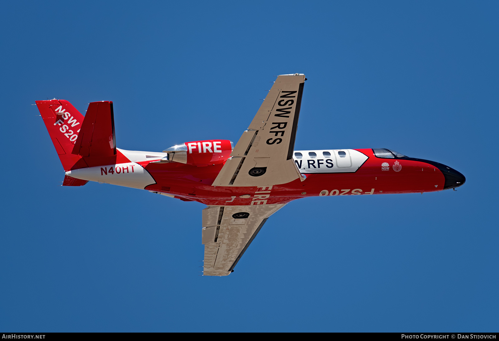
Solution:
M116 155L113 102L92 102L88 105L72 154L93 158Z

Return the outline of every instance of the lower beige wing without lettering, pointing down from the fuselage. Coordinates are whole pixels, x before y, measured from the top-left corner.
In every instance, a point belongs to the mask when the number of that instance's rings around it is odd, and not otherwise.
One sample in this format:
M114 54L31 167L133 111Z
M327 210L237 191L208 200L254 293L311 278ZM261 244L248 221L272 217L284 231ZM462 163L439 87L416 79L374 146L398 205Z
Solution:
M284 205L208 206L203 209L203 275L229 275L268 217Z

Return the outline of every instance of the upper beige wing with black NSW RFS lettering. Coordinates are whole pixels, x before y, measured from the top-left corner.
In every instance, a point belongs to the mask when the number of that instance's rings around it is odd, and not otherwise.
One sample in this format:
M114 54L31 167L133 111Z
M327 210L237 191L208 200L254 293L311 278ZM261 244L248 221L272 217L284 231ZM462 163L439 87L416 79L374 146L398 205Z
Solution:
M305 75L280 75L213 186L268 186L304 177L293 161Z

